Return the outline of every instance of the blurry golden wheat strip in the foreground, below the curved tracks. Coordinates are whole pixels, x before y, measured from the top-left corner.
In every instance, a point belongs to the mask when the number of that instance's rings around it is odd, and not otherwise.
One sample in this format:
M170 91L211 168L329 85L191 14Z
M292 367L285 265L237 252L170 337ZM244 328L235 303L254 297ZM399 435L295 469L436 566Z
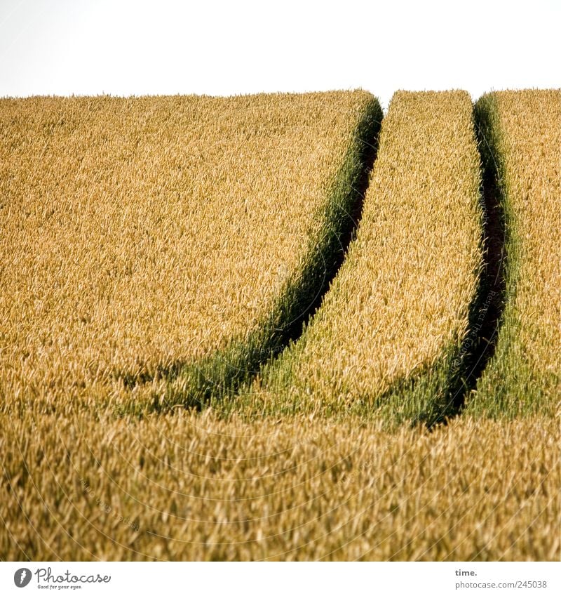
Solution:
M558 560L555 420L0 414L0 557Z

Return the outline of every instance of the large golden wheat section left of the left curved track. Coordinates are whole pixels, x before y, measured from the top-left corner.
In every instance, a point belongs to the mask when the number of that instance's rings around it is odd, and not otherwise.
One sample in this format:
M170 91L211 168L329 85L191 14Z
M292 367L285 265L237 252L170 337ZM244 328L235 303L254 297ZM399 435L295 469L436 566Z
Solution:
M362 91L1 100L4 406L234 385L322 291L380 119Z

